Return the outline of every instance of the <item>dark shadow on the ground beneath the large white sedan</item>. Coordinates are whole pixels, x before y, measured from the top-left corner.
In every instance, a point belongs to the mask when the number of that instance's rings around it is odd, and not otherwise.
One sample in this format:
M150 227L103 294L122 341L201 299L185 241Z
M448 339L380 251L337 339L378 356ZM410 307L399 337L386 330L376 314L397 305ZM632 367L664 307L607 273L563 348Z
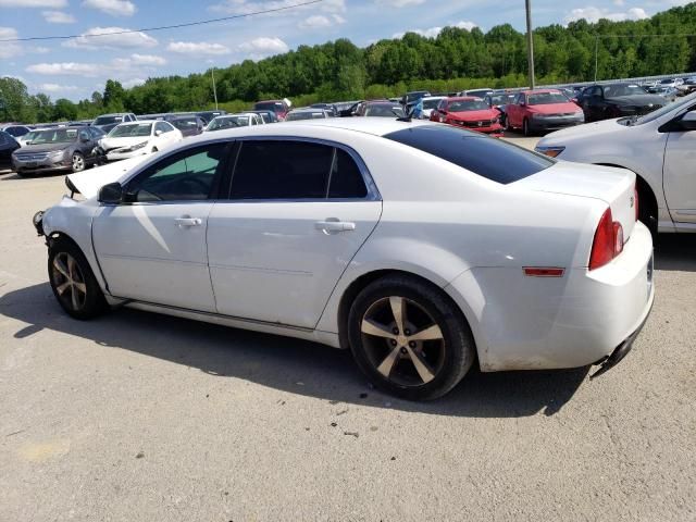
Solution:
M587 369L490 374L472 370L448 396L432 402L408 402L372 389L343 350L128 309L94 321L75 321L59 308L48 283L0 297L0 314L28 324L14 334L15 339L50 330L102 347L197 368L221 378L248 380L330 401L440 415L526 417L539 411L551 415L573 397L587 374Z

